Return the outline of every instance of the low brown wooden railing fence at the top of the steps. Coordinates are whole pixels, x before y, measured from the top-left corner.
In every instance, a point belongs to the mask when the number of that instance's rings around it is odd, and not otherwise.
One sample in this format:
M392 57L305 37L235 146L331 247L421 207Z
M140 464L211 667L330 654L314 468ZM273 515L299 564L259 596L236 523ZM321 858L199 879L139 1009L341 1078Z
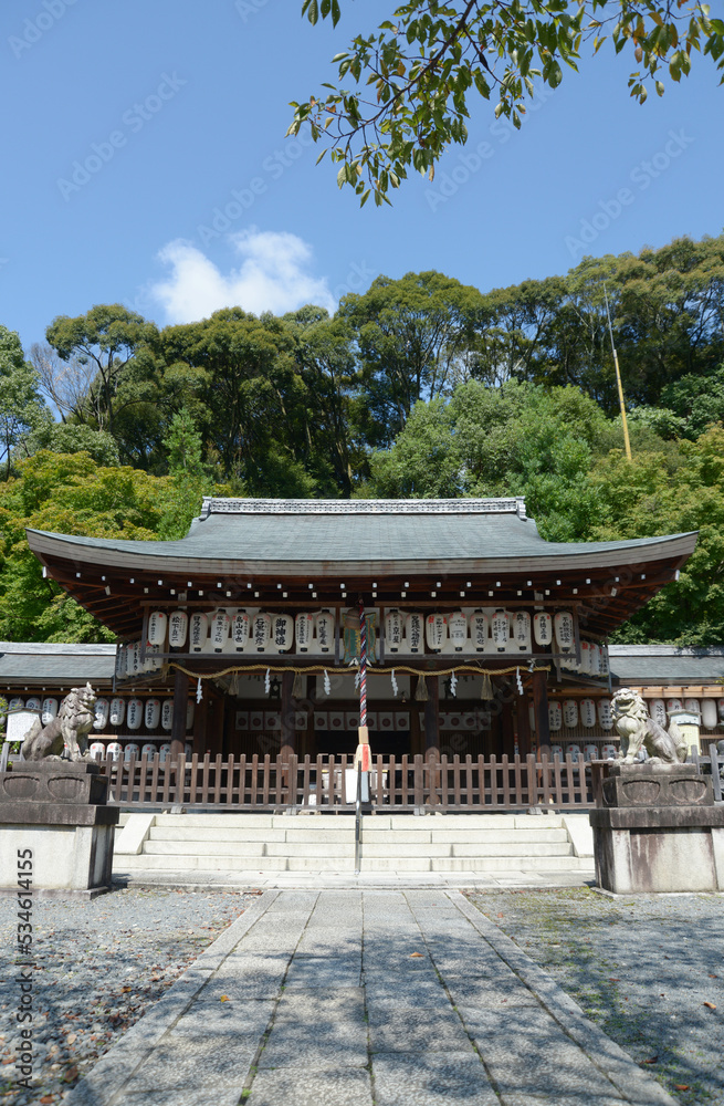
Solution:
M690 758L691 759L691 758ZM714 796L722 801L716 747L695 762L712 773ZM588 810L608 768L607 761L584 761L543 755L501 757L375 757L369 796L379 813L412 810L510 811L528 806ZM190 760L160 758L114 761L103 771L109 778L108 801L124 806L183 805L269 811L291 807L343 813L353 811L356 772L351 757L214 757Z

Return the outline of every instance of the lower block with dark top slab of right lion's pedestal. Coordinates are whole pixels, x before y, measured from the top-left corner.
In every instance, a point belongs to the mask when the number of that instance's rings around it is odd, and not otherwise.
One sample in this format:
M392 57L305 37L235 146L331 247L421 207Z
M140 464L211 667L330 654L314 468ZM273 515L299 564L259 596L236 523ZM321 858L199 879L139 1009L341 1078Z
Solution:
M724 808L694 807L686 817L680 807L674 825L672 813L591 811L599 887L617 895L724 890Z

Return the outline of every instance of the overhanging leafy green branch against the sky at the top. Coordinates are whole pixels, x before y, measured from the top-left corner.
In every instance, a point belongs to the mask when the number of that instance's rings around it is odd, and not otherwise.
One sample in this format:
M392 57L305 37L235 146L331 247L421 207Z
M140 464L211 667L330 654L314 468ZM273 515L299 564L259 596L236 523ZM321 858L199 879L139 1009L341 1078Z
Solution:
M340 18L339 0L304 0L312 23ZM724 20L710 19L693 0L410 0L390 6L377 32L357 34L334 59L338 86L294 103L290 133L308 124L340 163L339 187L350 185L365 204L377 204L398 188L408 169L432 176L451 143L468 136L469 98L496 101L495 116L516 127L536 83L552 88L564 66L577 70L584 48L596 53L611 40L628 50L636 70L631 95L640 103L647 85L663 94L662 71L680 81L692 53L709 54L724 66Z

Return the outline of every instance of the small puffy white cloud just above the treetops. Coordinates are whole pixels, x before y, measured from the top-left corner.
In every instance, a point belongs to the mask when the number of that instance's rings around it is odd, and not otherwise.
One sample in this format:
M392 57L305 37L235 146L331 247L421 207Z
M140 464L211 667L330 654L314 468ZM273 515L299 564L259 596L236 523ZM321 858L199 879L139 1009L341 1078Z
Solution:
M312 250L296 234L259 231L255 227L231 234L241 258L228 275L190 242L176 239L159 252L171 272L154 283L150 296L161 304L169 323L191 323L221 307L243 307L275 315L315 303L329 312L336 302L326 279L309 272Z

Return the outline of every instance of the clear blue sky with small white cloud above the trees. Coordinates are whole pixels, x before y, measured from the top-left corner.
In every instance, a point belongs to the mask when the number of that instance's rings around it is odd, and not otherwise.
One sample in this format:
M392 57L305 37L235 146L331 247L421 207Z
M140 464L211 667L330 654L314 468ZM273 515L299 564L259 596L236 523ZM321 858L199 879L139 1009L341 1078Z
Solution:
M59 314L123 302L159 325L240 303L334 309L379 273L482 291L724 227L724 88L710 61L630 100L604 48L521 132L473 101L434 182L359 210L288 102L390 10L347 0L333 32L301 0L20 0L0 10L0 322L25 347Z

